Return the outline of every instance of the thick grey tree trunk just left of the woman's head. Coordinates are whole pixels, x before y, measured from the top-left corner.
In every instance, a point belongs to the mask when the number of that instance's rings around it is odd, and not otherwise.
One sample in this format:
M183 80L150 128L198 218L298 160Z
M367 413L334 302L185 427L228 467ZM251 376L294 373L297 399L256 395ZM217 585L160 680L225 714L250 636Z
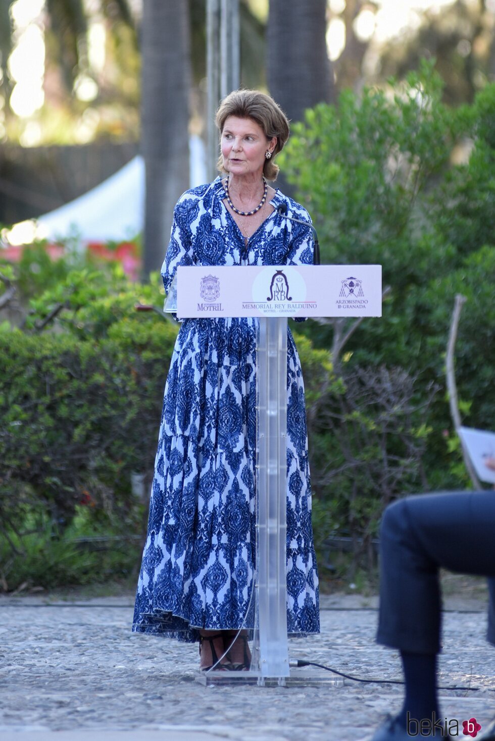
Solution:
M146 167L146 278L159 270L173 206L189 184L189 19L186 2L144 0L142 16L142 154Z

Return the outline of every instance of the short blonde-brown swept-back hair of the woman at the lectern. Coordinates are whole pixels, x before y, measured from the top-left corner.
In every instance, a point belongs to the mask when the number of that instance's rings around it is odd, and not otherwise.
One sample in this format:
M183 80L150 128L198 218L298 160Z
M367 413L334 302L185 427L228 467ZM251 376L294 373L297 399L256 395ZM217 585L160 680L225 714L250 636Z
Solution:
M289 122L282 108L269 95L260 90L233 90L222 100L216 111L215 122L222 136L223 127L229 116L239 119L253 119L262 127L268 140L276 136L276 144L271 159L265 160L263 176L267 180L276 180L279 166L273 158L284 147L289 138ZM225 173L223 157L220 155L217 167L220 173Z

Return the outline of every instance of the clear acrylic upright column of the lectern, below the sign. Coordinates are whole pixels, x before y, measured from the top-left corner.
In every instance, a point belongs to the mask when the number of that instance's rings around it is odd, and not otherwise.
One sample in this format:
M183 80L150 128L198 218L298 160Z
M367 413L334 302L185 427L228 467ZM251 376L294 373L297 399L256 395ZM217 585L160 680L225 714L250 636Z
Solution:
M287 319L259 319L256 343L256 572L251 671L290 676L287 639Z

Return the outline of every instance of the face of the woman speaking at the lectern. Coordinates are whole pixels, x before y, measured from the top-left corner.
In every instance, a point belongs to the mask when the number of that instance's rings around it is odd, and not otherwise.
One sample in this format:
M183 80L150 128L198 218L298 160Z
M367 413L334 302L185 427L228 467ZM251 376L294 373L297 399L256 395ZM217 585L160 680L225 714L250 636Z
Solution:
M262 177L266 150L273 151L276 137L267 139L262 127L253 119L229 116L222 130L224 170L232 175Z

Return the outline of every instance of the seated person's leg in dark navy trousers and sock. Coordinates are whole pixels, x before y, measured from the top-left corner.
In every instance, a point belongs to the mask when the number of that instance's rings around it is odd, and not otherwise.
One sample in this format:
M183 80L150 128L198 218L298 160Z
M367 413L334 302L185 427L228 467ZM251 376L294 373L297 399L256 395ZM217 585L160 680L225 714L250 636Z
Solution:
M424 494L387 508L380 536L377 640L401 651L402 713L373 739L408 738L410 718L439 717L436 654L440 650L439 567L495 576L495 493ZM495 581L488 639L495 643Z

